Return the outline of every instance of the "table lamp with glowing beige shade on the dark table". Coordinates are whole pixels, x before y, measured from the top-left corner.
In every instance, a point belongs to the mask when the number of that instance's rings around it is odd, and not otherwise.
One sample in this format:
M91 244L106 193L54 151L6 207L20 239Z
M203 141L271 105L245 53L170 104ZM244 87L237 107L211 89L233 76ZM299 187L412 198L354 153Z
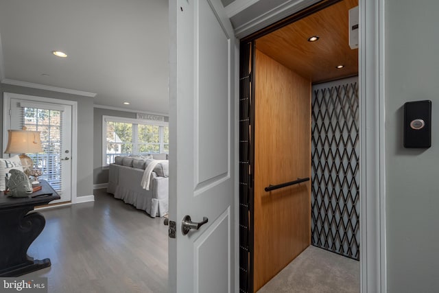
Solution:
M20 160L23 172L29 176L34 162L25 153L43 152L43 148L41 148L40 132L26 129L23 126L23 130L8 130L8 145L5 154L21 154Z

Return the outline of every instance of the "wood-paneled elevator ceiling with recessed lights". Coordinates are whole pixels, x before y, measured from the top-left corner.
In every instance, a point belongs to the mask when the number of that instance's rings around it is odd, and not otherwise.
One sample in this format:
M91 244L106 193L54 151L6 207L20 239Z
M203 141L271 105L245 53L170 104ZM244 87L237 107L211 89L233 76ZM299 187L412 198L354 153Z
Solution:
M348 10L357 5L358 0L340 1L258 38L256 47L311 82L356 75L358 49L349 47ZM318 41L307 41L315 35Z

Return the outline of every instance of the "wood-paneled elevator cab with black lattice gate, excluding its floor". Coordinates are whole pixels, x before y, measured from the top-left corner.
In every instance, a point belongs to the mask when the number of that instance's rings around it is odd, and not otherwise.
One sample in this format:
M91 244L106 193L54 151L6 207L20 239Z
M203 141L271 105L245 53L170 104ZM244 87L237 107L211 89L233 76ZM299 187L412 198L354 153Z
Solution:
M310 245L359 260L357 5L320 1L241 40L241 292Z

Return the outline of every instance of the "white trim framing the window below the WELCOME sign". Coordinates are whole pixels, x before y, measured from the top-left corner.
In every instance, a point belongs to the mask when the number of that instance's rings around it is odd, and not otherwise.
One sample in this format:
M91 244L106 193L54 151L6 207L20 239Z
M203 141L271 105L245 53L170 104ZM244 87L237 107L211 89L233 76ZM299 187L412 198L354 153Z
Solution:
M137 125L138 124L147 124L147 125L155 125L155 126L168 126L169 122L164 121L155 121L155 120L145 120L145 119L133 119L133 118L125 118L125 117L117 117L117 116L107 116L102 115L102 168L106 169L108 168L108 164L106 163L107 157L106 157L106 123L107 122L121 122L121 123L130 123L134 124L133 132L137 133ZM163 128L159 128L159 136L160 136L160 149L164 150L164 141L163 141ZM137 152L137 135L134 135L133 133L133 152Z

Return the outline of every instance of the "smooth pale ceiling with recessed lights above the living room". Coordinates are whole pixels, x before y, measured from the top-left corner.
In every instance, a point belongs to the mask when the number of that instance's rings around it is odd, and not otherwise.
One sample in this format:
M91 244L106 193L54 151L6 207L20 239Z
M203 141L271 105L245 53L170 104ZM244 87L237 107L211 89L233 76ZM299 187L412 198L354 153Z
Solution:
M1 82L82 91L96 94L97 105L168 113L167 15L165 0L0 0Z

